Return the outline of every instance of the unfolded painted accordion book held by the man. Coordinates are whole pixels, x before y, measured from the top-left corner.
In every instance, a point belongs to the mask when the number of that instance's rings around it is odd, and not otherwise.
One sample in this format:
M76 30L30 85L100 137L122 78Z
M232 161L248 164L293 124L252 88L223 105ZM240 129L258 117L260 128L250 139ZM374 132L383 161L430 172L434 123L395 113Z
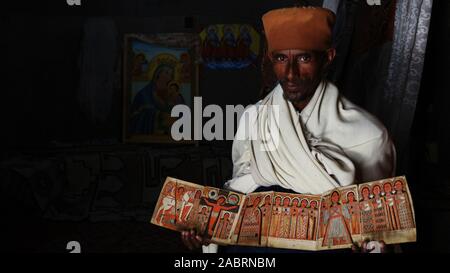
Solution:
M350 248L366 238L416 241L404 176L335 188L321 195L240 194L168 177L151 223L195 229L221 245L303 250Z

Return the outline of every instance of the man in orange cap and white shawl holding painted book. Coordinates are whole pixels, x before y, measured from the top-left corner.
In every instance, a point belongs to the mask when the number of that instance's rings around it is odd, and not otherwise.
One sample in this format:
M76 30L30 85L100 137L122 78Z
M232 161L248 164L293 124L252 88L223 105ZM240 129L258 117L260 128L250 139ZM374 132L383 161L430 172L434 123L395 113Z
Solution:
M277 9L262 17L278 85L242 115L225 188L321 194L394 175L395 148L384 126L325 80L336 55L334 20L323 8ZM193 233L182 236L188 246L203 243Z

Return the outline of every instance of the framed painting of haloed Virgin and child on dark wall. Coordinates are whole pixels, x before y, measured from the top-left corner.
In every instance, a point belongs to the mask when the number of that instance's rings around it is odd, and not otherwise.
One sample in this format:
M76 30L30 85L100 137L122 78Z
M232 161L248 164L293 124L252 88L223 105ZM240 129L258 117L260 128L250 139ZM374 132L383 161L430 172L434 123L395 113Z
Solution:
M178 105L193 111L198 44L198 35L188 33L125 35L124 142L193 142L174 138L171 128L179 117L171 113Z

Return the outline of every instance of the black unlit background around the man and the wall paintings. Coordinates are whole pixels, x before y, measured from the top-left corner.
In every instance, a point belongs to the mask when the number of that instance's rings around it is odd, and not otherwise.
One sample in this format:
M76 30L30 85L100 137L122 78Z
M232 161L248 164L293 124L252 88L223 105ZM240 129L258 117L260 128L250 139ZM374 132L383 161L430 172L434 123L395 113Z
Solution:
M322 1L309 2L321 5ZM231 177L231 142L124 144L121 37L125 33L196 33L222 23L251 24L261 31L264 12L295 3L82 0L80 7L68 7L65 1L9 4L0 24L2 60L7 60L2 62L6 77L0 95L0 207L6 228L1 233L2 250L67 252L67 242L76 240L83 252L188 251L178 234L148 223L155 196L168 175L221 186ZM448 1L434 1L408 158L398 170L398 175L408 178L418 230L417 243L405 244L405 252L450 250L449 12ZM90 18L112 20L119 37L111 110L101 122L83 111L78 97L80 50ZM364 31L371 26L362 20L358 28ZM379 41L389 39L388 33ZM351 75L346 77L338 81L340 87L349 85ZM261 78L259 64L241 70L201 67L203 105L254 103L260 96ZM364 94L341 91L359 104L366 103Z

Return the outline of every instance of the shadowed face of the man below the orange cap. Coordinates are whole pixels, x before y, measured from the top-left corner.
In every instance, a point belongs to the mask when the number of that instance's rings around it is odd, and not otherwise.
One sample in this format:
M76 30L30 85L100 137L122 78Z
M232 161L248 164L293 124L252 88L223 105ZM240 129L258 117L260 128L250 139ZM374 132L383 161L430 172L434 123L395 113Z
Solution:
M273 70L292 103L309 100L322 79L326 54L300 49L275 50L271 53Z

